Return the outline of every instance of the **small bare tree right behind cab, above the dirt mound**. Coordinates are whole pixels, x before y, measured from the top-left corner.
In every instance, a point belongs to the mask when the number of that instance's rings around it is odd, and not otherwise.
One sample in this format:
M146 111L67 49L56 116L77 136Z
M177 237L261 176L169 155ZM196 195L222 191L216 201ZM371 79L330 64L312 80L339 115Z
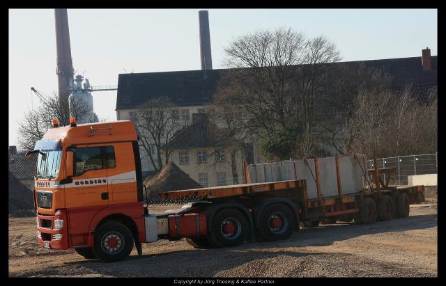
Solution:
M185 126L180 120L178 110L168 97L157 97L148 100L139 107L134 118L141 146L156 172L169 163L170 155L174 151L169 143L175 132Z

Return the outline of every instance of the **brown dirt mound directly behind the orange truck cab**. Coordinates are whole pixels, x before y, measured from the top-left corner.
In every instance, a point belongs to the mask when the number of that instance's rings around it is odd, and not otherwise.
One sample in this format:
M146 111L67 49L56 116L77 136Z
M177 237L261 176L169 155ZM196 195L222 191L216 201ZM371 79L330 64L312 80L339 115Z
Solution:
M202 188L201 184L192 180L174 162L170 162L155 177L146 179L144 185L150 198L157 198L164 191L180 191Z

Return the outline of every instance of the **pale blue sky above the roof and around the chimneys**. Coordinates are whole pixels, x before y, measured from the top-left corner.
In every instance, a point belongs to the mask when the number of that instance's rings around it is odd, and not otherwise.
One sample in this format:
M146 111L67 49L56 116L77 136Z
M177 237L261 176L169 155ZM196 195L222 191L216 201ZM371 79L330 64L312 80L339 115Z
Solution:
M75 70L93 86L117 85L123 69L199 70L199 10L209 10L214 68L233 37L278 26L326 35L342 61L421 56L425 47L437 54L436 9L68 9ZM57 90L54 29L54 10L9 10L9 145L39 104L31 86ZM92 94L95 113L116 120L116 91Z

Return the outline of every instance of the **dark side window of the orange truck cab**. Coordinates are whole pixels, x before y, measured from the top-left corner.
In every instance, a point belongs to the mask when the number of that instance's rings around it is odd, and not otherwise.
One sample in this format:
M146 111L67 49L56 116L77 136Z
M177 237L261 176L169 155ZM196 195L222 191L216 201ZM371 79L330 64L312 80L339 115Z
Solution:
M82 175L89 170L116 167L113 146L75 148L73 151L75 176Z

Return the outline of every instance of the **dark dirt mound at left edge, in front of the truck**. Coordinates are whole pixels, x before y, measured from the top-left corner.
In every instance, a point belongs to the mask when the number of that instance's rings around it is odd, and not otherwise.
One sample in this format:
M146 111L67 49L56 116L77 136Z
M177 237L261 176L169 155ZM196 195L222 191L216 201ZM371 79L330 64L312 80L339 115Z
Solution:
M8 172L8 195L8 212L10 214L34 208L33 192L20 183L10 172Z

